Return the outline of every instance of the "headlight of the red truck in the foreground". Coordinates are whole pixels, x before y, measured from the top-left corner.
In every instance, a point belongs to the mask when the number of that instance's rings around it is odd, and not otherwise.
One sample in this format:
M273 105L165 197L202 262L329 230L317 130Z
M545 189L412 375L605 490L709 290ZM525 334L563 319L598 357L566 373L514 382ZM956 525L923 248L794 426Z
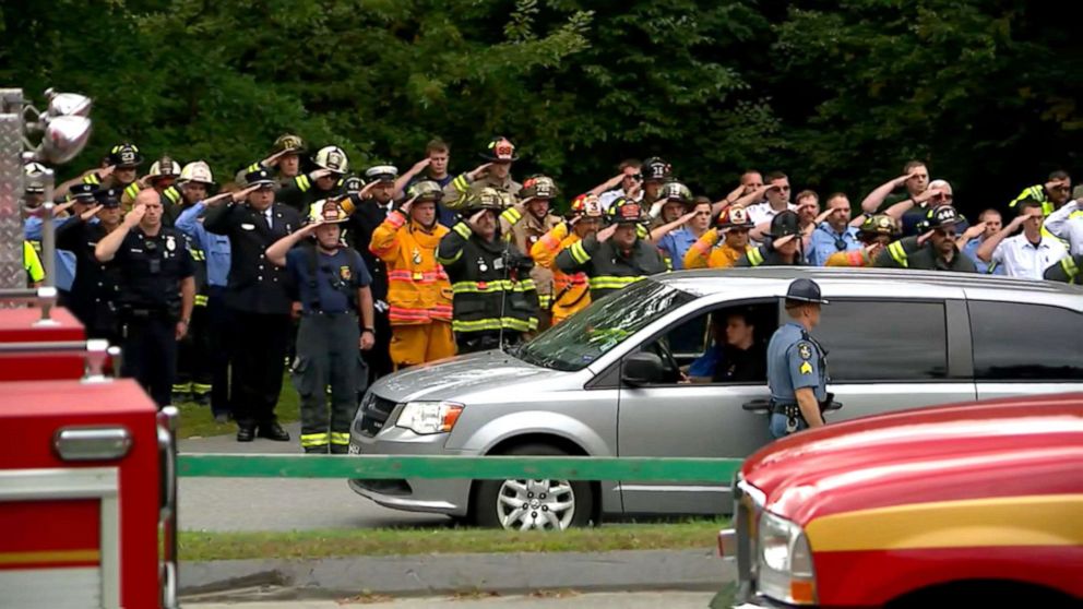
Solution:
M760 592L790 605L814 605L816 576L805 532L770 512L760 517L757 563Z

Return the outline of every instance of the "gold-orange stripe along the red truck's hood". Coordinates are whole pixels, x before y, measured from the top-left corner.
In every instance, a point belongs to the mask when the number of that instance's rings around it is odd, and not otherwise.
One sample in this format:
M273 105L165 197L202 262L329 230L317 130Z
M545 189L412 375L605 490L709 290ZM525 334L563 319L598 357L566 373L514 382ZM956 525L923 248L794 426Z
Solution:
M805 527L813 551L1083 546L1083 493L909 503L829 514Z

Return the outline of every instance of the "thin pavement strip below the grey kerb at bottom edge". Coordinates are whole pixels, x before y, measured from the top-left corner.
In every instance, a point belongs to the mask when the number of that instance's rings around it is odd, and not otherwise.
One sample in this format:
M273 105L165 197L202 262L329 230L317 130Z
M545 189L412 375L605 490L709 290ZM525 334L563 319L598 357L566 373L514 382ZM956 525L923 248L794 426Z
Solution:
M427 607L444 607L447 609L572 609L573 607L591 607L594 609L658 609L659 607L666 609L704 609L713 596L714 593L691 592L566 593L561 596L443 597L401 600L388 598L385 601L381 601L381 597L369 597L357 599L356 605L348 600L257 601L239 604L186 602L185 607L190 609L342 609L343 607L362 606L386 609L424 609Z

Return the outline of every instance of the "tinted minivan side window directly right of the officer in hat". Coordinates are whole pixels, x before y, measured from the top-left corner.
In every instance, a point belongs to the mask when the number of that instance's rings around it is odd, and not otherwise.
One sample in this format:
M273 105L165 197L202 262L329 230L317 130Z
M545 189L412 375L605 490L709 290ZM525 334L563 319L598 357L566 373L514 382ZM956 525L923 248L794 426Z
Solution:
M948 375L942 302L832 300L812 336L831 381L926 381Z

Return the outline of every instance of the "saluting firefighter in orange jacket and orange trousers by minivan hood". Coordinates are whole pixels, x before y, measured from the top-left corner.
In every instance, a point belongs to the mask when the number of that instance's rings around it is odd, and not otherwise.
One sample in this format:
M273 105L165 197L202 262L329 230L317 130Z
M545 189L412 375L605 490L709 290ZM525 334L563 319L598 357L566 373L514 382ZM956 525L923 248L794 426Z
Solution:
M451 283L436 258L449 231L437 222L443 191L425 180L415 182L407 195L372 232L369 246L388 267L389 348L395 370L455 355Z

